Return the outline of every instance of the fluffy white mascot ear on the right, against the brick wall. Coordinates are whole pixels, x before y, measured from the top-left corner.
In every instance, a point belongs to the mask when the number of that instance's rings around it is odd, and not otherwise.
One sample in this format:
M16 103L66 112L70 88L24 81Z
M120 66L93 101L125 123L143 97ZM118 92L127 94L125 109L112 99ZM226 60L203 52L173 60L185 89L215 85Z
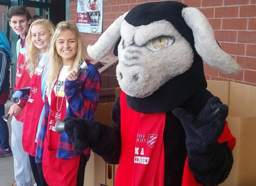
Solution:
M235 60L225 53L214 38L211 24L197 8L182 9L182 17L192 30L195 49L205 63L222 73L234 74L241 70Z

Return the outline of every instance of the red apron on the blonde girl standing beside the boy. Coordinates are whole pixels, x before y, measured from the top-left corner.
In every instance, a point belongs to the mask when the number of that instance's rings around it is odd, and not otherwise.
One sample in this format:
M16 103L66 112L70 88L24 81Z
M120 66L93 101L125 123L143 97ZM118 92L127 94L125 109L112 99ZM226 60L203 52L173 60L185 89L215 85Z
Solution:
M42 67L42 72L44 66ZM42 100L41 91L41 75L34 74L31 79L31 89L29 92L28 102L26 102L23 132L22 132L22 145L24 151L32 156L35 156L35 137L38 127L38 122L41 116L44 102Z

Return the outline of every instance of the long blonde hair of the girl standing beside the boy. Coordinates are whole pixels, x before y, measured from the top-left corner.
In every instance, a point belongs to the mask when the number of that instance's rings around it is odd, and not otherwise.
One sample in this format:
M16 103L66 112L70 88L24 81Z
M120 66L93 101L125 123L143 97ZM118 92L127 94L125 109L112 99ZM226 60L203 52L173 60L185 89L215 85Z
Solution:
M28 49L28 52L26 54L26 60L25 60L25 66L26 70L29 72L29 76L32 77L32 75L35 72L36 65L38 63L38 55L40 50L36 48L34 43L32 43L32 35L31 35L31 29L35 25L45 25L46 28L48 28L49 33L52 36L54 35L55 26L52 24L51 21L47 19L39 19L34 22L32 22L31 26L29 27L28 35L26 36L26 48ZM49 46L48 46L49 49Z

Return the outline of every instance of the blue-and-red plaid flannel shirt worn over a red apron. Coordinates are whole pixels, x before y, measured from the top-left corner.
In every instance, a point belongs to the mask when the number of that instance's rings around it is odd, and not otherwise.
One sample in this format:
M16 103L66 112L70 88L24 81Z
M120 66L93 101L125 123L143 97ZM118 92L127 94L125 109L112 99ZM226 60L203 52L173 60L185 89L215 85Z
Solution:
M99 100L99 90L101 89L101 77L94 65L89 64L88 67L89 70L82 71L77 80L66 80L65 82L64 92L68 102L66 117L82 117L87 120L94 119L94 112ZM45 96L45 114L36 146L36 163L42 162L49 110L48 97ZM83 153L89 160L91 149L87 148ZM71 141L69 141L67 134L63 132L59 138L56 158L68 160L68 158L77 157L78 155L81 155L81 153L73 150Z

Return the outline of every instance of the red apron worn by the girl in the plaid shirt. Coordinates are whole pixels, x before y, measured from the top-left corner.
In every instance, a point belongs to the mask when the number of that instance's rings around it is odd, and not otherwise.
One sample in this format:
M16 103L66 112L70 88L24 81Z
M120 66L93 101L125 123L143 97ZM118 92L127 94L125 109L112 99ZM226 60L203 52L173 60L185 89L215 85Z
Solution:
M57 96L55 96L54 89L51 93L51 106L49 111L48 126L44 141L44 153L42 158L42 170L45 181L52 186L76 186L77 174L80 162L80 155L78 157L63 160L56 158L59 137L61 134L55 132L55 123L58 120L64 120L66 114L66 99L63 98L63 106L61 111L56 110ZM58 108L61 105L62 97L59 97Z

